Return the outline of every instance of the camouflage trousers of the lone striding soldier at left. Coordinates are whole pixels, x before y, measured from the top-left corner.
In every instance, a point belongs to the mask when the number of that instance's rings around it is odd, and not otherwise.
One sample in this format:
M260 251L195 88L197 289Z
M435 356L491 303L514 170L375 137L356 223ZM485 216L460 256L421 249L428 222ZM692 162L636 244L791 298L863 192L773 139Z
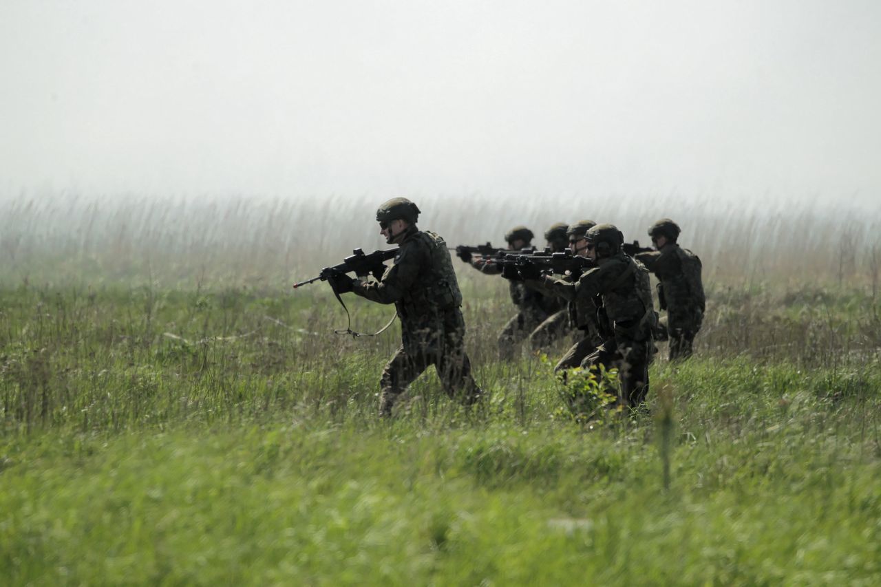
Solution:
M415 325L402 322L403 344L382 369L380 416L389 416L398 396L432 365L449 397L465 405L475 403L481 390L471 376L464 335L459 308L438 316L420 316Z

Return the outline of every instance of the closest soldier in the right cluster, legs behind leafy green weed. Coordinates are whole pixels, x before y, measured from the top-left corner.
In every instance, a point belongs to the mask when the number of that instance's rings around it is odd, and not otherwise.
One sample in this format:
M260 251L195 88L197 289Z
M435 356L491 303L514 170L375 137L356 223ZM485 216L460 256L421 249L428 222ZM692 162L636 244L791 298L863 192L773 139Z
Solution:
M622 403L639 405L648 393L648 362L654 348L652 330L656 320L648 270L621 250L624 237L611 224L591 227L584 241L585 256L596 263L595 268L584 272L577 283L552 276L542 279L576 305L581 302L589 307L597 298L602 301L604 315L599 326L603 343L581 361L581 367L618 368ZM573 409L577 409L578 401L573 398Z

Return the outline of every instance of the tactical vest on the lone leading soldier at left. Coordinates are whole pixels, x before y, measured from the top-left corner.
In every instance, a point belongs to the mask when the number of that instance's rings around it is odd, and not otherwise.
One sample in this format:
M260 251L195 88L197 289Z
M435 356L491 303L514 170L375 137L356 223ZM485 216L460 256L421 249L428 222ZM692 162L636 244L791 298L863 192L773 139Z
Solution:
M419 279L398 302L402 317L418 316L423 312L437 312L462 305L462 293L455 279L453 261L447 242L431 231L413 236L418 246L428 251L429 263L419 273Z

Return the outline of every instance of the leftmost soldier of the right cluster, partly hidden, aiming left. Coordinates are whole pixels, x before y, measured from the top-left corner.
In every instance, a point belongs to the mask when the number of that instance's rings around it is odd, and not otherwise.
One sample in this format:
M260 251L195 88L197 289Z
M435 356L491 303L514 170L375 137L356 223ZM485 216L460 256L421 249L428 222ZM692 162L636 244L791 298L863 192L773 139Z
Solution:
M514 227L505 234L505 241L511 250L522 250L532 242L532 231L527 227ZM458 254L464 262L487 275L500 275L499 265L492 259L472 259L470 253L462 251ZM559 310L559 301L526 287L520 281L509 281L508 289L511 301L517 307L517 313L507 321L499 334L499 356L502 360L511 360L522 341L534 331L538 324Z

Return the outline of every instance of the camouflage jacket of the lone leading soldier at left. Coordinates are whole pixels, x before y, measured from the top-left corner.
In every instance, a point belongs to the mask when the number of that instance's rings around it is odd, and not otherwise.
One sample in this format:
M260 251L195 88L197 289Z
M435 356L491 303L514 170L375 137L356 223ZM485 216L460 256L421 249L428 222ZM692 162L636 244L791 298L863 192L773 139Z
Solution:
M411 226L399 247L382 279L357 279L355 294L394 303L403 328L436 322L436 316L462 305L447 243L440 236Z

